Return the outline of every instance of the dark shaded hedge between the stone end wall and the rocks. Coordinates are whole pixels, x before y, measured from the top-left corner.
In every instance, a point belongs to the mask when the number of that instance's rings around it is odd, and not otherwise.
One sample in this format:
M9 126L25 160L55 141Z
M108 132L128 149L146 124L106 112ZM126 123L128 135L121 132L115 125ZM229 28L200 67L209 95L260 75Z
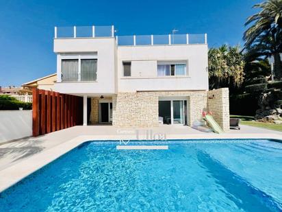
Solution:
M255 116L255 111L259 109L257 104L258 96L258 93L231 95L229 97L230 114Z

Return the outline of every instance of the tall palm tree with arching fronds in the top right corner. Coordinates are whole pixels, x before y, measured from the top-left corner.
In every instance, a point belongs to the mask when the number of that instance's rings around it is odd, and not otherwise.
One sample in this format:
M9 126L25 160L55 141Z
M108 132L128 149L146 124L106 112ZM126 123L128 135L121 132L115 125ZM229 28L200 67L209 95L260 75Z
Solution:
M248 17L245 26L251 27L244 32L245 48L257 49L261 56L273 56L276 78L282 77L282 0L268 0L253 8L261 11Z

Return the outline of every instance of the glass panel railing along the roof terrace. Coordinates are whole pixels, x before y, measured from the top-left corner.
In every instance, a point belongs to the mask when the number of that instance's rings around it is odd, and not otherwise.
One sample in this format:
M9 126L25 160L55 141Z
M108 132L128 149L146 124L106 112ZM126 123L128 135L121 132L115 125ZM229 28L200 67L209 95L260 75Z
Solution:
M55 27L55 38L116 38L118 46L207 44L207 34L115 36L114 26Z

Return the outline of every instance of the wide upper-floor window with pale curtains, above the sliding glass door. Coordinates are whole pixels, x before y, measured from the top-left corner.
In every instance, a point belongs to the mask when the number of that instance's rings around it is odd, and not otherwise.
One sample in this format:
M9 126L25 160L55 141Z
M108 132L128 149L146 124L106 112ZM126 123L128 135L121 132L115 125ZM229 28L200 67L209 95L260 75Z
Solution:
M186 64L157 64L158 76L186 75Z

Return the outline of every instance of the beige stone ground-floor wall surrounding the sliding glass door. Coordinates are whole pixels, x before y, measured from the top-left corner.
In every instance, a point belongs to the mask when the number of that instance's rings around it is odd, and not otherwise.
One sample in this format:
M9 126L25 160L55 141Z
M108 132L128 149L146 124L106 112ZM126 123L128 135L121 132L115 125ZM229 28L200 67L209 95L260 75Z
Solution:
M113 125L118 127L153 127L158 123L159 97L188 97L188 124L207 110L206 91L156 91L118 93L113 99Z

